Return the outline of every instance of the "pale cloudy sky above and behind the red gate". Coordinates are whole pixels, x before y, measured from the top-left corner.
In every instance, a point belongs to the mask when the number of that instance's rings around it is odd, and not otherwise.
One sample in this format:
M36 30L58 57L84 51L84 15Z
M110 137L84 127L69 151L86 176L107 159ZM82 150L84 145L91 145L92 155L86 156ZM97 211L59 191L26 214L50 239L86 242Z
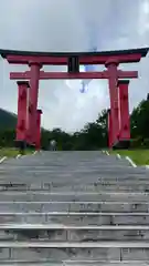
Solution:
M149 0L1 0L0 48L34 51L88 51L149 45ZM17 112L17 84L0 60L0 108ZM137 65L129 88L130 110L149 92L149 57ZM46 68L45 70L49 70ZM56 68L56 70L61 70ZM46 129L79 130L108 106L107 81L95 80L87 93L78 81L41 81L39 106Z

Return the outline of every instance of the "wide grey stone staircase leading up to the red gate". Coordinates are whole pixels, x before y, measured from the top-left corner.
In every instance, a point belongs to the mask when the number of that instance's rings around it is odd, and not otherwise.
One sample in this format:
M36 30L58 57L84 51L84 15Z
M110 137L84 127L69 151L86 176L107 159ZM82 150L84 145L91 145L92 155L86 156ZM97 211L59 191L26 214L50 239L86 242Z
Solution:
M1 265L149 263L149 172L102 152L0 164Z

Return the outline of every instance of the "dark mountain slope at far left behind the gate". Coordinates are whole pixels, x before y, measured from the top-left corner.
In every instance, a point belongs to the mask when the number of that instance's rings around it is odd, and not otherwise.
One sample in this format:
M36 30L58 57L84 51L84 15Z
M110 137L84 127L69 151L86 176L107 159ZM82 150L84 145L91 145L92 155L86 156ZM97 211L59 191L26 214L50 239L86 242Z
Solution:
M0 109L0 130L15 129L17 114Z

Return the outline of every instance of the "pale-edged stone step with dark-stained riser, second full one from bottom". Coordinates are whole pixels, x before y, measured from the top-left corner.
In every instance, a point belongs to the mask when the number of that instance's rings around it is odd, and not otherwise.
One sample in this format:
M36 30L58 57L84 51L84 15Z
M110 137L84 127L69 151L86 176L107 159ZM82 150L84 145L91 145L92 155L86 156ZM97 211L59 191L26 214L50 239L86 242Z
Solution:
M83 243L98 241L149 241L149 226L74 226L62 224L0 224L0 231L14 235L14 241ZM3 236L2 236L3 237ZM0 236L1 239L1 236ZM3 238L2 238L3 239ZM9 239L10 241L10 239Z

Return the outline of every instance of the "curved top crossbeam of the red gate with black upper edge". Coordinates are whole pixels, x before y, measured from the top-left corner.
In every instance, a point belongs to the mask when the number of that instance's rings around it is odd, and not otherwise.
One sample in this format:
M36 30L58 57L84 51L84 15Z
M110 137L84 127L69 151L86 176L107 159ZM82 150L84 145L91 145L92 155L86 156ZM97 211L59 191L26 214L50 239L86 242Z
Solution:
M32 51L17 51L17 50L0 50L3 59L9 63L14 64L30 64L36 62L42 65L66 65L70 58L76 58L78 64L105 64L110 58L118 61L118 63L139 62L141 58L146 57L149 48L118 50L118 51L103 51L103 52L32 52Z

